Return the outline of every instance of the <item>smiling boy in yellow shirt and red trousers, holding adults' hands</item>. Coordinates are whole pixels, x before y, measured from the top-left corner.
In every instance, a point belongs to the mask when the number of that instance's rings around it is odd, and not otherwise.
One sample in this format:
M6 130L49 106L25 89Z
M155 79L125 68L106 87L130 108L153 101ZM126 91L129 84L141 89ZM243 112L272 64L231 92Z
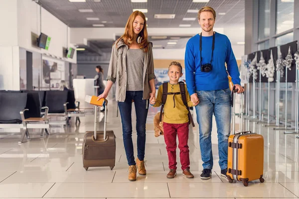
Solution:
M178 80L182 77L182 67L178 62L171 62L168 67L169 83L167 83L167 93L178 93L175 95L167 95L166 102L164 104L164 118L163 118L163 129L164 129L164 140L166 144L166 150L168 154L168 167L169 173L167 178L174 178L176 176L176 134L178 137L178 148L180 149L180 162L181 169L183 170L183 176L186 178L194 178L190 172L190 160L189 160L189 147L188 147L188 135L189 135L189 118L188 109L184 105ZM190 100L189 93L186 85L185 95L188 106L195 106L198 104L193 103ZM162 102L162 91L163 85L158 89L157 98L153 98L149 103L158 107Z

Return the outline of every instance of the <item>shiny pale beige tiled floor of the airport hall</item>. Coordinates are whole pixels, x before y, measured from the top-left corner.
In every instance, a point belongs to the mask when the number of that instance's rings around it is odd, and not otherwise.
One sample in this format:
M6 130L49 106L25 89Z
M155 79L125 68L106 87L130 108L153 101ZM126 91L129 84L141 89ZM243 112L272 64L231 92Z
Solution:
M212 178L201 180L202 161L199 149L198 125L190 128L190 167L194 179L178 175L167 179L168 159L163 137L153 135L152 118L158 111L149 108L146 141L147 176L128 181L128 165L122 140L120 117L116 117L116 103L108 107L107 129L116 134L116 166L89 168L82 165L82 142L85 131L93 130L93 115L81 118L81 124L66 131L59 126L50 129L50 136L39 138L38 130L30 132L31 140L18 144L19 133L0 134L0 198L299 198L299 139L274 131L260 124L245 121L248 130L264 136L264 178L244 187L237 182L229 184L220 177L215 122L212 132L214 168ZM135 110L133 110L135 112ZM99 129L103 129L102 112ZM133 114L135 120L135 114ZM73 118L72 118L73 120ZM195 118L194 118L195 120ZM237 119L237 121L239 121ZM135 123L133 124L135 126ZM247 129L244 129L247 130ZM136 131L133 140L136 154ZM179 154L179 151L177 151ZM179 157L179 156L177 156Z

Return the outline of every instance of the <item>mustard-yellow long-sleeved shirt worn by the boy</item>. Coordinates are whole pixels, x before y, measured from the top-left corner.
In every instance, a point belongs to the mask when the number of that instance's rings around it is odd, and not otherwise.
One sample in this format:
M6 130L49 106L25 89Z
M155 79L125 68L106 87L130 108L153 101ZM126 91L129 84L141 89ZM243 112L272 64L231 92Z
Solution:
M176 93L180 92L179 84L170 84L168 82L168 93ZM190 95L187 91L187 87L185 86L185 95L188 106L193 106L192 101L190 100ZM163 85L159 86L158 95L155 101L154 107L159 107L162 102L162 93L163 93ZM175 100L175 105L173 102L173 96ZM167 95L166 102L164 104L164 118L163 122L170 124L183 124L189 121L188 118L188 110L183 103L182 96L179 95Z

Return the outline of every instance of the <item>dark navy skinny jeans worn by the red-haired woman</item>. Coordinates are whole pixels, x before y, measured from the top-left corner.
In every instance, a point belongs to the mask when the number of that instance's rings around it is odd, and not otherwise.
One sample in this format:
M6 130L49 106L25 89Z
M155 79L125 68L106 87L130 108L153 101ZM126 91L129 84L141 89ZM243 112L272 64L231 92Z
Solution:
M126 100L118 102L123 125L124 146L129 165L136 165L132 140L132 100L134 100L137 120L137 157L141 161L145 158L146 122L149 107L147 107L147 100L143 100L142 98L143 91L127 91Z

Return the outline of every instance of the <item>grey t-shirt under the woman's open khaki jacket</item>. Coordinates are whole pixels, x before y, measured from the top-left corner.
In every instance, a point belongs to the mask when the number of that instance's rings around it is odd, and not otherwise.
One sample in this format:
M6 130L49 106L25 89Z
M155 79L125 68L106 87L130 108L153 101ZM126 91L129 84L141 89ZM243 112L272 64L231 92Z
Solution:
M144 61L143 49L128 49L126 57L127 91L143 91Z

